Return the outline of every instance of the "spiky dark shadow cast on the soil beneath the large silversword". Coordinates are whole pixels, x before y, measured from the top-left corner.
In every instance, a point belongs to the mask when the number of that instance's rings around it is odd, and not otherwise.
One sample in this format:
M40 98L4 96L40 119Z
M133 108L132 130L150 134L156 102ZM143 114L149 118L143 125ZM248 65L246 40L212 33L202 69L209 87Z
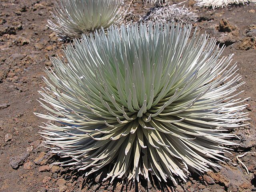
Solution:
M68 160L68 158L60 158L57 154L53 155L49 161L56 162ZM82 191L98 191L98 190L108 190L112 192L128 192L132 191L146 191L150 192L152 190L158 190L161 192L175 192L175 185L171 180L167 180L167 182L159 181L158 178L154 175L150 175L150 181L145 180L140 176L140 181L137 182L122 182L120 178L115 178L113 182L111 178L103 181L106 178L108 172L110 171L110 166L106 166L99 171L96 171L88 176L86 172L89 170L77 171L71 169L70 166L60 166L62 168L61 174L65 175L64 178L70 178L70 182L77 181L77 187ZM181 184L182 181L177 180L178 185Z

